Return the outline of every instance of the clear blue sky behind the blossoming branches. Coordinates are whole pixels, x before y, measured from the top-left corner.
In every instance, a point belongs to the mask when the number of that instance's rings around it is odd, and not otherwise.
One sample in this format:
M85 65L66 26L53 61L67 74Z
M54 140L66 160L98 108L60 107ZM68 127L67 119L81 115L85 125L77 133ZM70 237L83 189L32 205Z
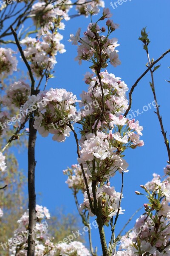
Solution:
M134 84L138 77L146 69L147 56L142 48L142 42L138 40L141 29L147 26L150 38L150 57L158 58L170 46L170 1L169 0L127 0L121 6L113 9L110 1L105 1L106 7L110 8L113 13L113 21L120 24L112 37L119 39L119 58L122 64L119 67L108 67L108 72L119 76L129 88ZM114 1L112 1L114 3ZM71 10L71 13L75 11ZM94 16L96 19L97 16ZM87 85L82 81L83 74L90 71L88 62L82 62L79 66L74 61L77 56L77 47L72 46L67 40L71 33L76 33L79 27L84 32L90 23L90 18L77 17L65 22L65 30L60 33L64 36L62 41L67 50L64 54L57 55L57 64L55 67L55 78L51 79L48 88L65 88L72 91L79 98L82 90L87 90ZM118 49L118 48L117 48ZM170 79L170 55L161 61L161 67L155 74L156 94L158 103L161 106L160 112L164 122L167 134L170 134L170 84L165 81ZM23 67L20 66L20 67ZM25 68L23 68L25 70ZM148 106L153 102L153 95L149 85L150 73L139 82L133 93L133 103L131 110L139 112L143 111L144 106ZM163 137L159 127L159 122L154 107L148 111L143 111L137 116L139 124L144 127L143 137L145 145L135 150L129 149L125 152L125 158L129 163L129 173L125 174L124 198L122 200L122 208L125 214L119 216L119 223L116 227L116 233L126 223L128 218L136 211L146 199L143 196L137 196L135 190L140 190L140 185L145 184L152 179L153 172L163 175L163 168L166 166L167 152L164 145ZM144 107L144 110L146 107ZM168 135L169 136L169 135ZM15 151L16 152L16 151ZM27 170L27 151L17 154L20 168ZM77 163L76 145L74 137L69 137L65 143L57 143L52 141L51 136L42 138L37 137L36 144L36 192L41 192L41 196L37 196L37 204L42 204L55 212L56 207L65 207L65 212L76 212L74 198L71 190L65 184L66 176L62 174L62 170L67 166ZM121 175L117 174L112 178L111 185L115 186L116 191L121 189ZM27 193L27 190L26 190ZM80 202L83 198L80 197ZM141 212L142 213L142 212ZM139 214L138 214L139 216ZM136 216L137 217L137 216ZM129 225L132 227L135 218ZM127 229L126 229L127 231ZM99 255L101 254L98 231L93 230L94 246L99 247ZM110 227L106 229L107 239L110 238Z

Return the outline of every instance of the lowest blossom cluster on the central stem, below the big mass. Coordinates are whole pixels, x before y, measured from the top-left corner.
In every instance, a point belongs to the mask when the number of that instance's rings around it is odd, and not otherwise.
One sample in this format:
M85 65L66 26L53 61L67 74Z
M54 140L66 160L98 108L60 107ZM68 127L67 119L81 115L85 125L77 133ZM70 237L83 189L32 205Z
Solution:
M92 188L89 188L91 199L93 199ZM114 187L103 185L102 187L96 187L96 199L100 198L100 203L102 207L102 220L103 224L109 225L111 217L115 216L119 209L120 193L116 192ZM99 204L98 201L98 204ZM93 203L92 203L93 204ZM90 203L88 200L87 191L84 193L84 202L80 205L80 210L87 208L90 216L94 216L91 212ZM123 214L122 208L119 209L119 214Z

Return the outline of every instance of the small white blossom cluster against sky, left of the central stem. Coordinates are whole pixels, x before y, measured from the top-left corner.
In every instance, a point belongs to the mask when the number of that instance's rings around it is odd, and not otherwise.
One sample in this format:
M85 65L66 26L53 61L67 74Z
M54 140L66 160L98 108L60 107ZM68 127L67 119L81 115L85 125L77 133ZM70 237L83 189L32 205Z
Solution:
M64 175L68 175L68 179L65 183L68 184L68 187L73 189L74 192L81 190L83 193L86 190L85 180L82 175L82 169L78 164L74 164L71 168L63 170ZM89 182L89 175L85 173L86 179Z

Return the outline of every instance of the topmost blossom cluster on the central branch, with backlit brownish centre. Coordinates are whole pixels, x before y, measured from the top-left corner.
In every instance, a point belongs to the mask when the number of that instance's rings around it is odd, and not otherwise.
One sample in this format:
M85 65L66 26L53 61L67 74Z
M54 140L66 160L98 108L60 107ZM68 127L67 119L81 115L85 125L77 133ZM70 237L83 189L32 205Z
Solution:
M99 12L97 7L92 8L92 6L88 6L86 10L91 13L91 15ZM112 15L107 8L103 10L102 17L99 20L104 20L111 16ZM108 38L108 36L118 28L118 24L113 23L112 20L108 19L106 26L108 30L107 35L100 35L106 31L106 28L103 26L100 29L97 22L88 25L87 31L84 32L82 38L80 38L81 29L78 29L75 36L73 34L70 35L68 41L72 41L72 44L74 45L77 45L78 42L80 43L77 49L78 55L75 58L75 60L79 61L79 64L82 63L82 60L91 61L94 63L91 68L94 68L95 70L99 68L99 61L101 68L107 67L109 62L114 67L121 64L119 55L117 54L118 51L115 49L119 46L119 44L117 44L118 40L117 38Z

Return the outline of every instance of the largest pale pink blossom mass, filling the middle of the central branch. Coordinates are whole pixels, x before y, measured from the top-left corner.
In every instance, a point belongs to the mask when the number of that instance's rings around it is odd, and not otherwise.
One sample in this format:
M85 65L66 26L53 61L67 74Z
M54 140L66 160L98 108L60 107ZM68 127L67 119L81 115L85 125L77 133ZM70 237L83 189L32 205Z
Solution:
M116 171L127 172L127 163L121 154L126 148L136 148L144 145L140 140L143 127L135 119L129 120L123 116L128 108L126 92L128 90L124 81L107 70L99 73L103 88L104 99L98 77L93 74L85 75L85 82L89 84L88 92L81 94L80 107L81 124L83 125L82 137L80 140L81 151L79 163L87 168L88 175L92 174L92 162L96 159L96 170L93 175L97 177L108 177L115 175ZM94 106L92 102L96 99L98 103ZM102 119L96 126L104 102L105 112ZM92 124L92 125L91 125ZM97 129L96 135L94 129ZM89 132L90 131L90 132Z

